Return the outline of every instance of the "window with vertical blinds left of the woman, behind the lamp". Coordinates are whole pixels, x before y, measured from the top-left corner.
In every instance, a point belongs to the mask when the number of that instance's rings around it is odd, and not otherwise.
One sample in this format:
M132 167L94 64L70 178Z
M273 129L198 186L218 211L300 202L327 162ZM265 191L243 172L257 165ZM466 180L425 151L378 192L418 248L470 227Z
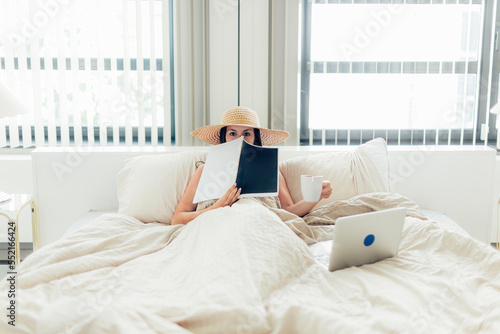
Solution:
M0 81L34 111L0 147L170 142L170 5L0 0Z

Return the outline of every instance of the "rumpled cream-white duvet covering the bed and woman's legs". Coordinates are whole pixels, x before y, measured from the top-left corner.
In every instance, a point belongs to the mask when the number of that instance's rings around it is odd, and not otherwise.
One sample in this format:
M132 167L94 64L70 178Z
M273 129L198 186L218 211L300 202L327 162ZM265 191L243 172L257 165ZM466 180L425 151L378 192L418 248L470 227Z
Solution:
M334 227L314 216L333 223L378 209L370 203L415 213L398 256L333 273L318 265L306 242ZM242 199L186 226L105 215L23 261L15 327L3 316L0 333L500 333L492 247L417 218L394 194L327 211L289 220Z

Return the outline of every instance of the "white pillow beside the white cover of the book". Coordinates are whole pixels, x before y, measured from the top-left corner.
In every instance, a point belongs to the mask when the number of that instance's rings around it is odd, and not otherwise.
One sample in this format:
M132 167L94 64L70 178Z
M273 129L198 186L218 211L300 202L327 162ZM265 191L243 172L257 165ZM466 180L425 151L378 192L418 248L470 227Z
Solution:
M170 224L177 203L207 152L141 155L126 161L118 173L118 212L144 223Z

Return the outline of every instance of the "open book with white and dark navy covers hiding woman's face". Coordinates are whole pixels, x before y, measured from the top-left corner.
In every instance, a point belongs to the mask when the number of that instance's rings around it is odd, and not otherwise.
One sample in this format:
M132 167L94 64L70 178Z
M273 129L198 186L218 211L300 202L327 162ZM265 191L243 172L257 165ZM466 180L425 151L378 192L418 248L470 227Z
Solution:
M278 148L243 137L210 147L193 203L221 198L236 183L240 197L278 196Z

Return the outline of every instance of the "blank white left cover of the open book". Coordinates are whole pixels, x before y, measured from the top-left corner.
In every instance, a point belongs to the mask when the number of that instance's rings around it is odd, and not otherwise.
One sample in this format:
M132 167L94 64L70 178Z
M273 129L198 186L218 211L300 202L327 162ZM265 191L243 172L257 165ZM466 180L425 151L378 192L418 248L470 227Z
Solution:
M214 145L208 151L193 203L221 198L236 182L243 137Z

